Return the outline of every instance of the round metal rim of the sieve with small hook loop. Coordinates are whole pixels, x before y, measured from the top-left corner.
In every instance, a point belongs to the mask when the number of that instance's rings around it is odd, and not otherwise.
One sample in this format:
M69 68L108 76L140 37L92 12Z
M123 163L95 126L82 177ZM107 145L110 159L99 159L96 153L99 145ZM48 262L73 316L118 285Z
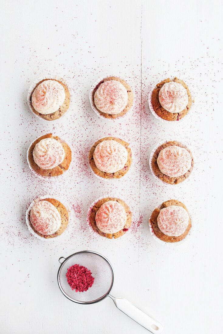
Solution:
M111 269L111 275L112 275L111 286L110 286L109 290L107 291L107 293L106 293L105 295L103 295L102 297L100 297L100 298L98 298L98 299L96 299L96 300L90 301L90 302L83 302L83 301L74 300L73 298L71 298L70 296L68 296L68 295L66 294L66 292L64 291L64 289L62 288L61 283L60 283L60 273L61 273L61 270L62 270L63 266L65 265L65 263L66 263L68 260L70 260L73 256L78 255L78 254L82 254L82 253L91 253L91 254L96 254L96 255L100 256L100 257L101 257L103 260L105 260L105 261L107 262L107 264L109 265L109 267L110 267L110 269ZM61 259L64 259L64 261L63 261L62 263L60 262ZM71 255L70 255L69 257L67 257L67 258L60 257L59 262L61 263L61 265L60 265L60 268L59 268L58 273L57 273L57 283L58 283L58 285L59 285L59 288L60 288L62 294L63 294L66 298L68 298L70 301L72 301L72 302L74 302L74 303L77 303L77 304L88 305L88 304L96 304L96 303L102 301L103 299L105 299L106 297L108 297L108 295L110 294L111 289L112 289L112 287L113 287L113 284L114 284L114 270L113 270L113 267L112 267L111 263L110 263L110 262L108 261L108 259L106 259L103 255L101 255L100 253L97 253L97 252L93 252L93 251L80 251L80 252L76 252L76 253L74 253L74 254L71 254Z

